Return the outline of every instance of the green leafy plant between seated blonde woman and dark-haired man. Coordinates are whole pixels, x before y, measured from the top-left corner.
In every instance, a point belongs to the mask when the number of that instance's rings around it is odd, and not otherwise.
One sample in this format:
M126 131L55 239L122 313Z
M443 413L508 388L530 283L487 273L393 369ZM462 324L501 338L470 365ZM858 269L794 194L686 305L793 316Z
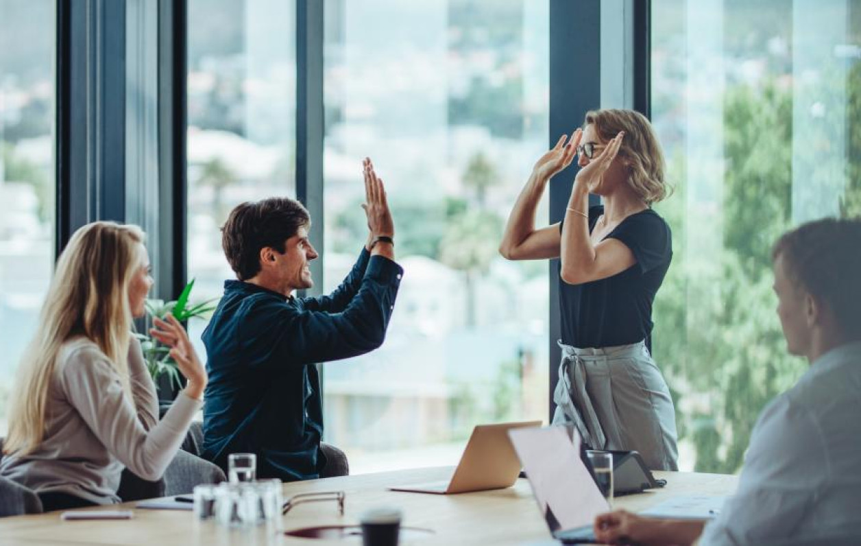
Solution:
M214 311L217 305L215 302L218 301L218 298L189 305L189 296L194 286L195 279L191 279L175 301L146 300L146 313L150 317L158 317L159 319L164 319L170 313L180 322L186 322L195 317L206 318L209 313ZM183 388L183 382L177 363L170 357L170 347L160 344L158 340L151 338L146 333L135 332L134 337L140 340L146 368L150 371L152 381L160 388L159 390L166 388L170 394L176 394L178 389ZM173 400L173 396L171 395L168 400Z

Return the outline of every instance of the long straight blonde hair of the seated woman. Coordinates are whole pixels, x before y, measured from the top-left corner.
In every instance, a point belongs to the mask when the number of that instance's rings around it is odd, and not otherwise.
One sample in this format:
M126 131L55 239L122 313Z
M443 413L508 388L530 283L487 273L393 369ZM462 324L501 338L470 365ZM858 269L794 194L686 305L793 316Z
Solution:
M71 236L57 261L39 329L18 366L6 453L27 455L39 446L57 355L70 338L84 336L98 345L130 393L127 355L133 319L128 287L143 242L138 226L106 221L83 226Z

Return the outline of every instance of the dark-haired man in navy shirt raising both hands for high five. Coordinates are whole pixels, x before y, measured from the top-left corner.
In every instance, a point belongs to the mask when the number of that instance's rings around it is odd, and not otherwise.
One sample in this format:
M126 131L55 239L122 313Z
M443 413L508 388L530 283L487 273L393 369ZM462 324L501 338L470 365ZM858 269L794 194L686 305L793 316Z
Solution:
M343 454L320 444L323 413L313 364L382 344L403 273L393 261L394 226L382 180L369 159L363 166L368 242L331 295L293 296L313 286L308 263L317 257L308 240L311 219L299 202L243 203L222 229L238 280L225 282L203 332L209 383L202 450L221 468L229 454L250 452L261 478L346 474L345 459L327 462L327 455Z

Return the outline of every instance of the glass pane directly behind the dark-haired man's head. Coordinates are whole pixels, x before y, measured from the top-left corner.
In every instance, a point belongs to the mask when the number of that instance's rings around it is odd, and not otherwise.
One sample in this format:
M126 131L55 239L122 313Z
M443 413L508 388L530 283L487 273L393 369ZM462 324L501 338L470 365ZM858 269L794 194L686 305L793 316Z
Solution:
M220 226L240 202L295 196L295 6L189 0L188 278L192 300L235 278ZM203 351L202 320L189 323Z

